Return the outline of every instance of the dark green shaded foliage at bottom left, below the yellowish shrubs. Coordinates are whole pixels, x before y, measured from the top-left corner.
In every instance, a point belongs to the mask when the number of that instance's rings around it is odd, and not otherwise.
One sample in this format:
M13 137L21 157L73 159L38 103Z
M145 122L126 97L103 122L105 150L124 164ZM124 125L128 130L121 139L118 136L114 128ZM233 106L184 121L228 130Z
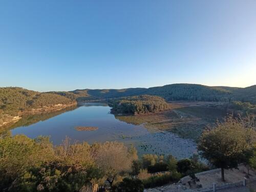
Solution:
M82 186L100 176L96 167L81 170L57 161L32 167L20 179L15 187L19 191L79 191Z

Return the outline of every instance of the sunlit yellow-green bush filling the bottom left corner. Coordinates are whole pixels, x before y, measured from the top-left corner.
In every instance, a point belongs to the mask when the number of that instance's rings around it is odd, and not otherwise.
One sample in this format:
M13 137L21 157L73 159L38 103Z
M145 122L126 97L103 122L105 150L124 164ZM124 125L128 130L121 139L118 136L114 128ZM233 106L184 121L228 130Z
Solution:
M24 174L29 167L38 166L53 157L49 138L29 139L24 135L0 139L0 190Z

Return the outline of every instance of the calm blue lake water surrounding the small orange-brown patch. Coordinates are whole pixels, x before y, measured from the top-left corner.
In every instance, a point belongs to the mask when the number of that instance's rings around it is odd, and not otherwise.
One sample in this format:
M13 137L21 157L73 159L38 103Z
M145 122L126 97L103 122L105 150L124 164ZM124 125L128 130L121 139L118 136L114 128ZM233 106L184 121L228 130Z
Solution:
M163 131L148 132L143 125L133 125L115 118L110 107L102 103L85 103L70 111L30 115L12 126L12 134L25 134L30 138L50 136L54 144L60 144L68 136L78 142L88 143L119 141L133 144L139 155L144 153L172 154L186 158L196 152L196 144ZM76 131L76 126L96 126L96 131Z

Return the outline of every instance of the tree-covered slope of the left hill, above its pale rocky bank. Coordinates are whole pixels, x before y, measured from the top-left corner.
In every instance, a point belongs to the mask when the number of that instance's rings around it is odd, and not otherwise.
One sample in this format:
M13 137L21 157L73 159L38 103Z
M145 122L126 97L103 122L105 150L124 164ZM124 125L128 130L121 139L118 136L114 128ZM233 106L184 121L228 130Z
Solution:
M53 93L40 93L23 88L0 88L0 114L17 115L20 111L72 102L65 96Z

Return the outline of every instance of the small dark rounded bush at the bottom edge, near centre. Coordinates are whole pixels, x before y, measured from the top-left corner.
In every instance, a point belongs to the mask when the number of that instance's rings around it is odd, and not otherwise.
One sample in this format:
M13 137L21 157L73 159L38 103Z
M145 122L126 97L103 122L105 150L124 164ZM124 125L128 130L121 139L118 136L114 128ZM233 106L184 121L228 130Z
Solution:
M117 187L118 192L143 192L144 186L139 179L124 178Z

